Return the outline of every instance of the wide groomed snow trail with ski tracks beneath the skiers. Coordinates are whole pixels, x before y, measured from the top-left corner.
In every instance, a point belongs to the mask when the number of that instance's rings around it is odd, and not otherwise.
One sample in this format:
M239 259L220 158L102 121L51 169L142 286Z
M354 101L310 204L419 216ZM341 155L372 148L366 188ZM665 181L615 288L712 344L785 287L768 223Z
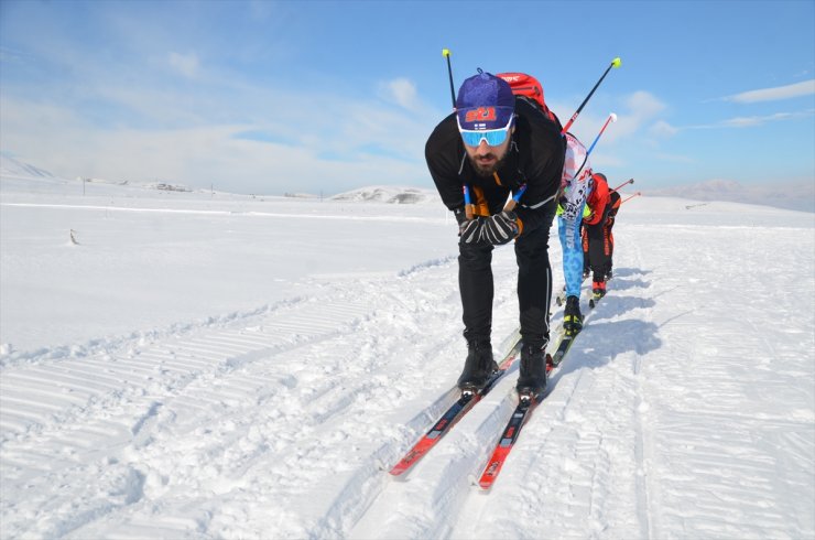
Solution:
M815 408L797 381L815 375L814 315L784 324L802 302L787 283L808 276L815 300L812 229L615 231L609 294L489 493L472 482L517 366L404 478L387 473L455 396L450 257L6 363L0 536L813 538ZM694 242L716 249L677 249ZM498 350L511 248L495 269Z

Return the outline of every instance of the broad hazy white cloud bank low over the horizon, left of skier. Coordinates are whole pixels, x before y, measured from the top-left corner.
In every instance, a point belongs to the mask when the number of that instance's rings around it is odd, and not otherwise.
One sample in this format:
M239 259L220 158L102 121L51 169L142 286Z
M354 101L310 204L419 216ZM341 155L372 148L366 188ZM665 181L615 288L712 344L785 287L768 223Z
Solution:
M238 193L337 193L428 181L422 150L439 115L416 119L370 101L325 96L325 107L315 108L314 96L270 96L257 89L243 97L241 106L253 110L254 118L243 109L229 116L252 121L202 118L178 122L182 127L175 129L165 128L167 123L132 129L96 126L67 106L2 96L2 147L64 177L161 179ZM270 140L238 137L251 131L268 133Z

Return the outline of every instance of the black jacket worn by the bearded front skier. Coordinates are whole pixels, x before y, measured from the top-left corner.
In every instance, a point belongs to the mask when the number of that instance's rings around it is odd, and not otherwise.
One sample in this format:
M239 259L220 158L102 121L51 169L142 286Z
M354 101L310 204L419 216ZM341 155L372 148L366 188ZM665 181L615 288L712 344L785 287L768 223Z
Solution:
M425 144L425 159L442 201L450 210L464 207L463 186L483 195L489 214L503 209L510 192L522 184L526 191L515 207L525 235L540 225L545 203L553 201L561 187L566 140L561 126L547 119L524 98L515 98L515 131L507 156L497 171L500 185L492 179L476 174L467 159L455 114L442 120ZM476 202L475 198L472 201Z

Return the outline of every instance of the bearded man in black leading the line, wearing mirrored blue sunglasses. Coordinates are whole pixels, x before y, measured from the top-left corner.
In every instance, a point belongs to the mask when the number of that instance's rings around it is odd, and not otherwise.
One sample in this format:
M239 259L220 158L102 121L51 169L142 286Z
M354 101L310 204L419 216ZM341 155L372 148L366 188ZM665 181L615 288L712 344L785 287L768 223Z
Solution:
M467 78L456 111L442 120L425 145L431 176L459 225L458 283L467 358L458 379L477 391L497 369L492 357L492 250L515 242L518 300L523 347L517 388L539 393L546 386L552 269L550 228L561 185L564 139L559 126L510 85L481 69ZM518 206L503 209L510 193ZM468 212L465 192L472 198ZM468 215L470 214L470 215Z

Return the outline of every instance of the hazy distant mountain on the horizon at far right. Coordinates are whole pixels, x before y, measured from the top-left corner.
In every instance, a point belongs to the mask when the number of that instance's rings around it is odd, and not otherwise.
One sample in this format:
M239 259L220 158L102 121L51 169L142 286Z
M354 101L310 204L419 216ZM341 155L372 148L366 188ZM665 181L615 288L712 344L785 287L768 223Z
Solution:
M646 194L695 201L762 204L776 208L815 213L815 183L746 185L731 180L710 180L663 190L649 190Z

